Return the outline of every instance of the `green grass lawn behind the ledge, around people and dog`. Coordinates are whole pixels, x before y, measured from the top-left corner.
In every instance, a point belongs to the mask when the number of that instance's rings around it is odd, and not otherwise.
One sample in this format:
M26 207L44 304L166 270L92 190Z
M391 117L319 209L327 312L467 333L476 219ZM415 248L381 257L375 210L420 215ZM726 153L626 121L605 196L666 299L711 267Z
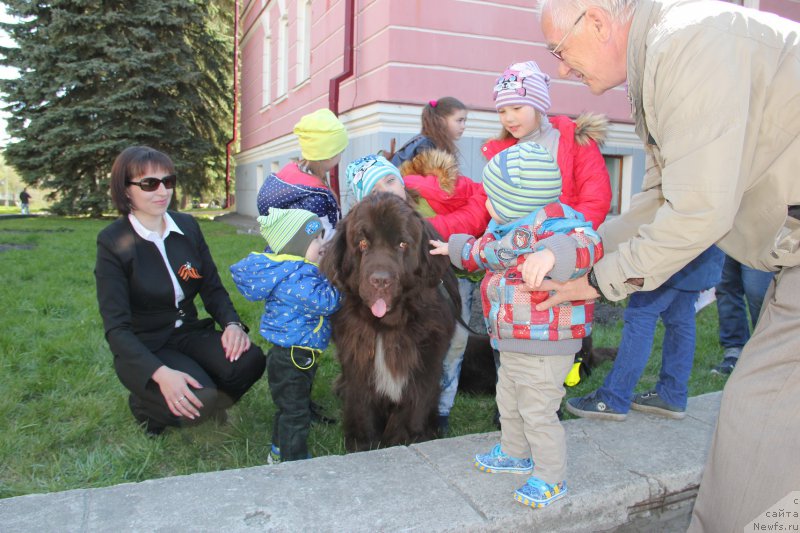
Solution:
M95 237L109 222L44 216L0 220L0 498L266 462L274 412L266 379L230 410L225 425L169 430L151 439L134 423L95 298ZM237 234L219 222L201 224L242 319L258 324L261 304L239 295L228 265L262 249L261 237ZM725 383L708 372L720 351L715 306L701 311L697 324L692 395L720 390ZM621 327L596 327L595 346L616 346ZM660 353L661 336L659 327L655 353ZM253 340L266 351L262 339ZM659 366L660 358L651 357L638 390L655 383ZM605 363L567 396L594 390L609 368ZM330 389L337 372L328 350L313 395L338 418L341 409ZM494 431L493 413L493 397L459 395L452 434ZM343 454L340 426L312 426L310 446L314 456Z

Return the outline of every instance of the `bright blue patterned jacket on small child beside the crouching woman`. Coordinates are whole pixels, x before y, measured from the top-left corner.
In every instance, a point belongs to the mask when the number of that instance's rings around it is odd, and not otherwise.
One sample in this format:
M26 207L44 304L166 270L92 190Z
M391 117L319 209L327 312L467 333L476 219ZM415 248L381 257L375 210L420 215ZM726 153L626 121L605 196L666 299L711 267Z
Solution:
M284 348L327 348L328 317L339 309L341 295L316 264L294 255L253 252L231 266L231 274L245 298L264 301L262 337Z

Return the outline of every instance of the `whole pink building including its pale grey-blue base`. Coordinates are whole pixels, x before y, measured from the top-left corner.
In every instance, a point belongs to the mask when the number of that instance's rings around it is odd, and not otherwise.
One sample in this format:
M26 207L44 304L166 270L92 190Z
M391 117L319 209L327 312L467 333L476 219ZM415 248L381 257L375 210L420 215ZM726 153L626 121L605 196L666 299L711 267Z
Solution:
M256 215L265 175L299 156L293 125L328 107L331 79L344 69L345 13L349 0L240 0L240 151L236 155L237 211ZM722 0L709 0L722 1ZM733 0L746 7L800 20L797 0ZM299 9L310 8L310 77L298 81L303 48ZM542 42L536 0L354 0L354 72L340 85L338 112L350 145L342 161L398 146L419 131L425 102L455 96L470 110L459 142L461 170L480 179L481 143L500 131L492 101L495 78L510 63L535 60L552 76L550 114L591 111L611 119L602 151L612 173L615 211L627 208L644 173L641 142L633 132L623 88L597 97L579 82L557 76ZM286 21L286 93L278 95L280 27ZM264 98L265 36L270 36L269 92ZM341 169L343 171L343 168ZM347 207L347 191L342 204Z

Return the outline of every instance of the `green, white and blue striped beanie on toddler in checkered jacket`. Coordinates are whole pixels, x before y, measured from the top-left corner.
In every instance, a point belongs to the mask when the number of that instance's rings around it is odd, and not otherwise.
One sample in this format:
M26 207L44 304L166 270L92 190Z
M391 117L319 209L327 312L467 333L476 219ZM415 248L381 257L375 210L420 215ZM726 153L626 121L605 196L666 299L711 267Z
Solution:
M546 148L526 142L495 155L483 168L483 188L503 223L558 201L561 172Z

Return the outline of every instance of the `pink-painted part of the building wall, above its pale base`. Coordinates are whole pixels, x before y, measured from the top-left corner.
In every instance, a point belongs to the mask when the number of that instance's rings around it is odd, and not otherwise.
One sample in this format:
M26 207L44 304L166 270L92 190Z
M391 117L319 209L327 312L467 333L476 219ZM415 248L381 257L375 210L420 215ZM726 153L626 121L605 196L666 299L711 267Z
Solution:
M541 43L532 0L356 0L355 74L341 85L339 111L374 102L419 104L444 95L456 96L470 109L493 110L492 85L509 63L533 59L555 75L555 59ZM242 20L241 150L291 132L305 113L327 107L329 81L342 72L345 0L314 0L310 81L295 87L297 2L250 0ZM278 36L285 8L288 27L289 94L267 108L262 105L264 19ZM272 72L277 71L272 54ZM273 95L277 76L272 76ZM556 114L592 110L612 120L629 121L622 90L587 98L580 84L559 80L552 85ZM587 103L591 107L587 108Z

